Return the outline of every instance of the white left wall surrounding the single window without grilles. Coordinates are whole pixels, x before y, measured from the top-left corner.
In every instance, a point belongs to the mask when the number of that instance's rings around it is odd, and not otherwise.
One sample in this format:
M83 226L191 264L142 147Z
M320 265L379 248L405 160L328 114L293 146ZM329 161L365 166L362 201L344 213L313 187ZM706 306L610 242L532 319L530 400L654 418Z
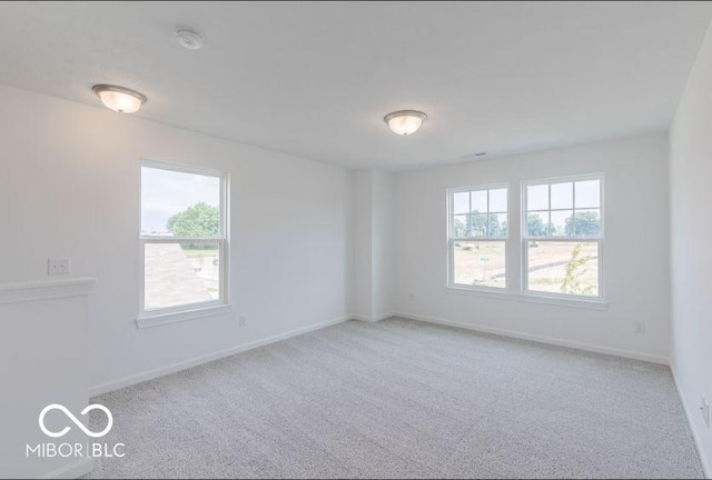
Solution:
M0 103L0 283L48 258L98 278L92 387L347 314L350 171L7 87ZM229 314L137 330L140 159L229 172Z

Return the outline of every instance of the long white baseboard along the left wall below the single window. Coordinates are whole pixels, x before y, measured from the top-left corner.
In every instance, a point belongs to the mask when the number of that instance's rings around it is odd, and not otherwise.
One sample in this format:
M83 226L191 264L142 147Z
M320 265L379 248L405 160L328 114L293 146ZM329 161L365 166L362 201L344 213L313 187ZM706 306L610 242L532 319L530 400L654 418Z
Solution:
M125 378L119 379L119 380L101 383L101 384L91 387L89 389L89 398L96 397L96 396L99 396L99 394L102 394L102 393L108 393L110 391L119 390L121 388L129 387L129 386L132 386L132 384L136 384L136 383L140 383L140 382L144 382L144 381L147 381L147 380L152 380L155 378L162 377L162 376L166 376L166 374L169 374L169 373L175 373L175 372L180 371L180 370L186 370L186 369L189 369L191 367L197 367L197 366L202 364L202 363L208 363L208 362L211 362L211 361L215 361L215 360L219 360L219 359L225 358L225 357L230 357L230 356L234 356L236 353L240 353L240 352L244 352L244 351L247 351L247 350L253 350L253 349L256 349L256 348L259 348L259 347L264 347L264 346L269 344L269 343L275 343L275 342L278 342L280 340L286 340L286 339L291 338L291 337L297 337L297 336L300 336L303 333L308 333L310 331L315 331L315 330L319 330L319 329L323 329L323 328L326 328L326 327L330 327L330 326L335 326L335 324L338 324L338 323L343 323L343 322L345 322L345 321L347 321L347 320L349 320L352 318L353 318L353 316L345 316L345 317L342 317L342 318L338 318L338 319L335 319L335 320L328 320L328 321L325 321L325 322L322 322L322 323L316 323L316 324L313 324L313 326L308 326L308 327L304 327L304 328L300 328L300 329L291 330L291 331L288 331L286 333L280 333L280 334L277 334L277 336L274 336L274 337L268 337L268 338L263 339L263 340L257 340L257 341L254 341L254 342L250 342L250 343L246 343L246 344L243 344L243 346L229 348L229 349L226 349L226 350L220 350L218 352L209 353L207 356L197 357L197 358L194 358L194 359L190 359L190 360L184 360L184 361L176 362L176 363L172 363L172 364L169 364L169 366L166 366L166 367L161 367L161 368L158 368L158 369L148 370L148 371L145 371L145 372L141 372L141 373L137 373L137 374L134 374L134 376L125 377Z

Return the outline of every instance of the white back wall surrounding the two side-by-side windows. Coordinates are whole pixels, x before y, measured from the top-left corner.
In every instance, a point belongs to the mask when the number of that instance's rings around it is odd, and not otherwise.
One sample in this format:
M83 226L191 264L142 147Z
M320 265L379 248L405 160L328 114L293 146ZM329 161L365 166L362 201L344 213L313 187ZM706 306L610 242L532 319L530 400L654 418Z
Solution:
M446 189L603 172L607 310L453 293L447 282ZM670 342L668 141L652 134L397 176L397 310L413 318L502 331L666 362ZM513 229L514 230L514 229ZM513 232L513 234L516 234ZM521 252L508 266L517 277ZM518 286L512 286L518 291ZM409 296L413 296L411 300ZM634 322L646 323L645 334Z

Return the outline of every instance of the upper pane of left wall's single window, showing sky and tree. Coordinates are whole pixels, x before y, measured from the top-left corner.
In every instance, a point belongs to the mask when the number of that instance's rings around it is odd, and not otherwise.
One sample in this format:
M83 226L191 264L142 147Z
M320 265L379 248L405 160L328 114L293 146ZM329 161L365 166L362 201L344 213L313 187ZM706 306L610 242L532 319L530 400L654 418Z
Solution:
M212 237L219 230L219 178L141 167L141 233Z

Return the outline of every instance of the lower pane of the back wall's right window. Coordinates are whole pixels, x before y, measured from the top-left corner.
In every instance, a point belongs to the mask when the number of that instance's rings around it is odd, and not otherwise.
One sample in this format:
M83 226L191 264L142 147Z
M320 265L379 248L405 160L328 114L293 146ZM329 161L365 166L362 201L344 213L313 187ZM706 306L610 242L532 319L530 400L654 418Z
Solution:
M527 290L599 296L599 243L530 241Z

